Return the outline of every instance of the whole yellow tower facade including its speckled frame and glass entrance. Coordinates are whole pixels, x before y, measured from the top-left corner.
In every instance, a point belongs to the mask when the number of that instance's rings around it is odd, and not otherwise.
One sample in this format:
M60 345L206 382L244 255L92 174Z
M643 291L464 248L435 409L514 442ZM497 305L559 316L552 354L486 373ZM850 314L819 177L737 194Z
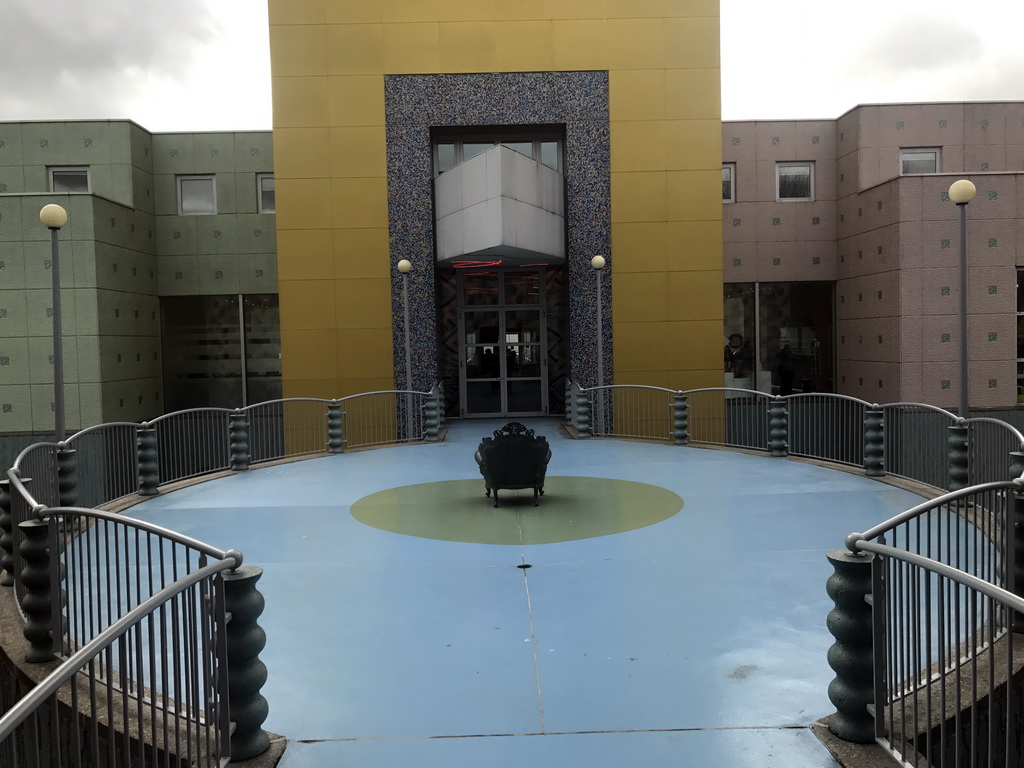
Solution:
M523 415L566 378L721 385L717 0L270 0L269 20L286 396L443 381L452 414ZM484 178L501 195L474 208ZM550 198L530 179L564 198L522 202Z

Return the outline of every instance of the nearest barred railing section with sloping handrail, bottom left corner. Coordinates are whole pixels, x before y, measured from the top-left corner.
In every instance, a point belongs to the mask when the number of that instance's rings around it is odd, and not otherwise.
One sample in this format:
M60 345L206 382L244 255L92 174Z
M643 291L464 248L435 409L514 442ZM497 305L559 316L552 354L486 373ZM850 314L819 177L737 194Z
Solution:
M157 592L4 702L0 766L225 765L223 573L234 566L218 560Z

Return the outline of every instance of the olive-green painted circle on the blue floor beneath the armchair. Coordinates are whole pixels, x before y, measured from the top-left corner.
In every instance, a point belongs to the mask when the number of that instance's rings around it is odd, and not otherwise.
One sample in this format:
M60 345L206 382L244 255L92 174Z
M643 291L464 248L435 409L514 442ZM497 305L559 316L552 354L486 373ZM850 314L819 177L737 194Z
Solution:
M622 534L675 515L683 500L657 485L603 477L548 477L539 506L532 490L502 490L499 506L483 479L444 480L381 490L351 507L361 523L394 534L475 544L552 544Z

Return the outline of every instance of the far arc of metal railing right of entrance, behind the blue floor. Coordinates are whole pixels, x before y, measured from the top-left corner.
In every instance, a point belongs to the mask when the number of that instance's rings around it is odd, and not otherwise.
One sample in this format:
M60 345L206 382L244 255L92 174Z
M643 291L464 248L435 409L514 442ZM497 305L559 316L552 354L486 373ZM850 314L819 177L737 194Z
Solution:
M1019 477L1024 434L984 417L920 402L839 394L770 395L711 387L566 387L566 422L581 436L763 451L891 474L942 489ZM955 430L963 430L957 432ZM1012 466L1013 465L1013 466Z

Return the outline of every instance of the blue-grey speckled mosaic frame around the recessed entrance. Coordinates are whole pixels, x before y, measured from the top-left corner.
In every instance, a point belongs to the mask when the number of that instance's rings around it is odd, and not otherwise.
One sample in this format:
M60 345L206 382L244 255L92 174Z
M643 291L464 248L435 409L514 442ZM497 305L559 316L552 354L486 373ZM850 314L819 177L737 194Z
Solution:
M409 259L412 388L438 376L431 128L559 125L565 130L569 354L574 380L597 381L597 295L590 259L611 250L608 73L525 72L384 78L391 260ZM610 259L608 260L610 266ZM406 386L401 276L392 269L395 381ZM611 273L603 275L603 358L611 376Z

